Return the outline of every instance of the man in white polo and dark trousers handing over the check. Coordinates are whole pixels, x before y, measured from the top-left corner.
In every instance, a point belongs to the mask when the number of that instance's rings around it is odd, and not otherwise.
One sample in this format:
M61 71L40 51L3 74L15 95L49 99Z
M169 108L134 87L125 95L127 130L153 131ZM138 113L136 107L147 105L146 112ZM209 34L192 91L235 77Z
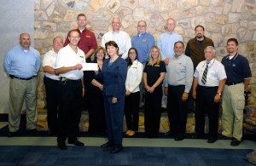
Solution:
M67 150L66 140L75 146L84 146L78 140L77 129L82 112L82 97L84 95L83 66L84 52L79 49L80 34L70 31L66 47L60 49L55 64L55 75L59 75L59 129L58 148Z

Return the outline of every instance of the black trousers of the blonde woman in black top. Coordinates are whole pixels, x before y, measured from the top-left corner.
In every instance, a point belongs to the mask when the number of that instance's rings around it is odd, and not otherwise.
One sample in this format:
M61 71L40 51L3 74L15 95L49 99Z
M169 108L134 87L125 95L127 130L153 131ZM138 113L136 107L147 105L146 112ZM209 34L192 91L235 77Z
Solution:
M149 138L157 137L159 134L162 95L161 85L156 87L153 93L145 90L144 124L145 133Z

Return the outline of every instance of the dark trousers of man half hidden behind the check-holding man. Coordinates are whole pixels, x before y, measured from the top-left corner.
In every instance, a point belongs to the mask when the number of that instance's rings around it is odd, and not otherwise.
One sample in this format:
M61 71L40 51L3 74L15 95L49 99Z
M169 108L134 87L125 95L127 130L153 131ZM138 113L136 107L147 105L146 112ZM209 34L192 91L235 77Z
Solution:
M50 79L49 77L44 77L47 103L47 122L49 131L51 132L57 132L58 130L59 82L60 81Z

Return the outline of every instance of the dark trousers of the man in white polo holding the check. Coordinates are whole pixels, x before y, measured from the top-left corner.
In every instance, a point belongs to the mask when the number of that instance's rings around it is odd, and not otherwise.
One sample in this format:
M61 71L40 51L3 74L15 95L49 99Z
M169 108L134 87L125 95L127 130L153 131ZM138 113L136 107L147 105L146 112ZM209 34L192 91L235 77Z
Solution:
M77 139L79 117L82 112L82 83L81 80L59 83L59 130L58 143Z

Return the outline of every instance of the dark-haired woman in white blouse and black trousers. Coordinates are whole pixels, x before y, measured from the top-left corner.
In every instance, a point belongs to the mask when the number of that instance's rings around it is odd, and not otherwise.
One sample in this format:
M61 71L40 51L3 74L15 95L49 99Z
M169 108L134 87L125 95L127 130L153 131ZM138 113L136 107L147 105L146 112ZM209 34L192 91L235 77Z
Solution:
M125 81L125 119L127 132L125 135L133 136L138 130L138 110L140 101L139 85L143 79L143 64L137 60L137 49L128 51L128 71Z

